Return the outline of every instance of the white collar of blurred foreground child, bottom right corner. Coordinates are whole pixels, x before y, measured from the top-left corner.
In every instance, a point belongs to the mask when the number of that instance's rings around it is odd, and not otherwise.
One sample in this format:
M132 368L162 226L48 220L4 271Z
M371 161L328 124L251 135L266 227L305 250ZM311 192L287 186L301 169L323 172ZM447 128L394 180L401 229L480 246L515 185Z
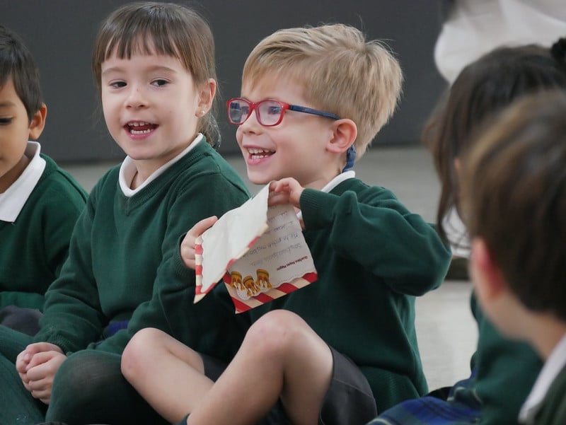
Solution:
M538 410L541 409L543 400L550 385L554 382L562 368L566 365L566 335L560 339L560 342L550 353L547 361L545 361L541 373L536 378L533 389L521 407L519 412L519 421L523 424L533 424Z

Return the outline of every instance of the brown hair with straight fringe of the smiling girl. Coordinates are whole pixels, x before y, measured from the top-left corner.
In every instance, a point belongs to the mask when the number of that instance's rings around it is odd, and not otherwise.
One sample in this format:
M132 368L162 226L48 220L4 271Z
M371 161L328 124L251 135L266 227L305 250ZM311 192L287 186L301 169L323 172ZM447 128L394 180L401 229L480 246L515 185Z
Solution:
M116 55L129 59L134 54L176 57L190 72L195 85L216 80L214 37L199 13L180 4L139 1L110 13L98 30L92 69L100 92L102 63ZM200 120L199 132L214 144L219 138L214 114Z

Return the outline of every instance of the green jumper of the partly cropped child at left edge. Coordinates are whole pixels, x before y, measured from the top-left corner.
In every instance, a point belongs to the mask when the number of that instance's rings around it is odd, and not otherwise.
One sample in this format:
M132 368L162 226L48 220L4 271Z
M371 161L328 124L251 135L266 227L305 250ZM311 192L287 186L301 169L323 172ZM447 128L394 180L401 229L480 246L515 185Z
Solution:
M0 221L0 308L43 310L44 294L67 258L86 192L48 156L14 223Z

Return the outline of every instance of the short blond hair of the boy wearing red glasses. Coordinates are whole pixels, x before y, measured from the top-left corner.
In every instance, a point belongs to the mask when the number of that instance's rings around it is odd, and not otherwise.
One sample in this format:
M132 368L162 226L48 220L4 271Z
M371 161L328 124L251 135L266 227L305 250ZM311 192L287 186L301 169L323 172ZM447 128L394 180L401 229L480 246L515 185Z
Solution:
M353 120L358 158L393 114L403 82L397 60L381 42L342 24L265 37L244 64L242 86L266 77L289 78L313 107Z

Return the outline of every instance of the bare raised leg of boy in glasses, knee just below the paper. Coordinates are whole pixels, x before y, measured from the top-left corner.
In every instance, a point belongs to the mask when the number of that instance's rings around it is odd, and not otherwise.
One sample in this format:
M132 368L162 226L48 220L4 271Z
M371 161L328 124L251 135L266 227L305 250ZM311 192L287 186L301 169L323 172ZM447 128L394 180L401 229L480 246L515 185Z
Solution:
M317 424L332 368L328 345L303 319L273 310L250 327L187 424L255 424L279 397L293 424Z

